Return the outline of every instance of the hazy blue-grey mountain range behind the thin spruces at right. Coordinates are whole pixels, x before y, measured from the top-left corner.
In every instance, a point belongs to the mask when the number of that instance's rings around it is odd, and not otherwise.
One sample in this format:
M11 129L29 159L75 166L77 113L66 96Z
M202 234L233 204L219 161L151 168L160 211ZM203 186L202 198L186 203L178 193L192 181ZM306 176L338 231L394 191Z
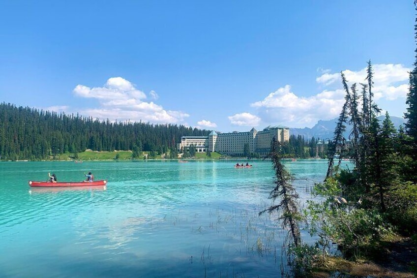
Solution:
M392 124L394 124L395 128L397 129L400 127L401 124L405 123L404 118L393 117L393 116L390 116L389 118L391 119ZM378 117L378 120L380 122L384 121L384 119L385 119L385 116ZM320 138L320 139L326 139L326 138L332 139L334 129L336 128L337 120L338 118L328 120L328 121L320 120L312 128L309 128L309 127L290 128L290 134L296 135L296 136L298 135L304 136L304 139L311 139L311 137L313 136L315 138ZM349 133L352 130L352 127L347 126L346 130L347 131L345 132L344 137L348 138Z

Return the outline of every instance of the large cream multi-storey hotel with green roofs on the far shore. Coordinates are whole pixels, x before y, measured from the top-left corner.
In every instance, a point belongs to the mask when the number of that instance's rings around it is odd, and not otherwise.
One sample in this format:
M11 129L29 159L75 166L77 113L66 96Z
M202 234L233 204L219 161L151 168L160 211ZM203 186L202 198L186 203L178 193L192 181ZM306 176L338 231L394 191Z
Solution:
M270 152L272 138L279 142L290 140L290 128L286 126L267 127L262 131L252 128L247 132L220 133L211 131L209 136L182 136L177 144L179 151L194 146L197 153L217 152L220 154L242 156L244 146L249 146L249 153L267 155Z

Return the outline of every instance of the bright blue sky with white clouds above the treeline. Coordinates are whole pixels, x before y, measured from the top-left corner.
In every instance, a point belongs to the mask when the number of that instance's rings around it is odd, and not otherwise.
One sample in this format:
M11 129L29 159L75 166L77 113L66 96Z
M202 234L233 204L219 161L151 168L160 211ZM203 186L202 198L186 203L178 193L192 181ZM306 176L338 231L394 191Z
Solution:
M67 3L65 3L67 2ZM338 117L374 65L402 117L412 0L0 0L0 101L222 132Z

